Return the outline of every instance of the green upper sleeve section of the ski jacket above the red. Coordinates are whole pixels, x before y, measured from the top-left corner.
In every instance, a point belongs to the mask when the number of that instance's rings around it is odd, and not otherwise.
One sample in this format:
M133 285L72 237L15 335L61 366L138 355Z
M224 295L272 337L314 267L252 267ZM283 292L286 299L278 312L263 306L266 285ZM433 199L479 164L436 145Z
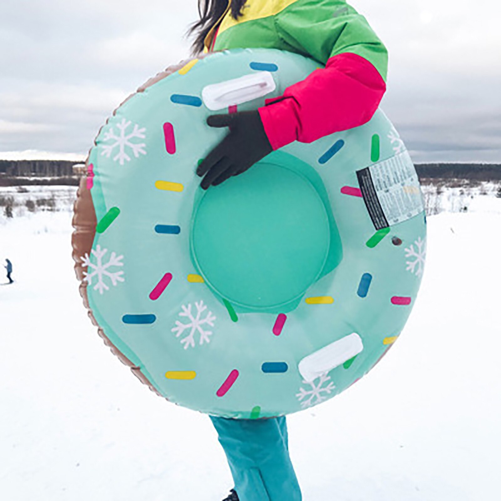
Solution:
M386 81L388 53L367 20L345 0L297 0L275 17L282 40L326 64L339 54L363 57Z

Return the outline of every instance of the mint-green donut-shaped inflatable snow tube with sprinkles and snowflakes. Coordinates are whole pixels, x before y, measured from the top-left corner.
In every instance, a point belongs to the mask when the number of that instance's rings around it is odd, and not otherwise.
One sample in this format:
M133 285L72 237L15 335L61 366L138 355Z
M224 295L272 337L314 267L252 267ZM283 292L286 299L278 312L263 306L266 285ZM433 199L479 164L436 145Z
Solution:
M231 418L314 406L407 321L426 219L382 111L199 187L197 164L226 133L206 118L263 106L316 68L277 50L185 62L123 103L90 151L74 216L81 294L106 344L171 402Z

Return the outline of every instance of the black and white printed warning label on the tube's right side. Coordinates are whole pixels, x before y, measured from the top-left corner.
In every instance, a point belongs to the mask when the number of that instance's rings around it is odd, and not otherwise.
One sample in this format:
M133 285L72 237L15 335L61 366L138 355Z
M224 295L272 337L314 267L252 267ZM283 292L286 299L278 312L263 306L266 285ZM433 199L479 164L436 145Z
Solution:
M360 190L376 229L424 210L416 169L407 151L357 171Z

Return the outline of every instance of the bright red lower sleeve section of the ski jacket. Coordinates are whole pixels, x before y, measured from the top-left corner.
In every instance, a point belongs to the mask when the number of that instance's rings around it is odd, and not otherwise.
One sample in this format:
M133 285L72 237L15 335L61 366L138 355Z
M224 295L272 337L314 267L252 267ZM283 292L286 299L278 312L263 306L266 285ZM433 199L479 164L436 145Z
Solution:
M386 91L378 70L357 54L330 58L326 67L288 87L259 109L274 150L358 127L376 112Z

